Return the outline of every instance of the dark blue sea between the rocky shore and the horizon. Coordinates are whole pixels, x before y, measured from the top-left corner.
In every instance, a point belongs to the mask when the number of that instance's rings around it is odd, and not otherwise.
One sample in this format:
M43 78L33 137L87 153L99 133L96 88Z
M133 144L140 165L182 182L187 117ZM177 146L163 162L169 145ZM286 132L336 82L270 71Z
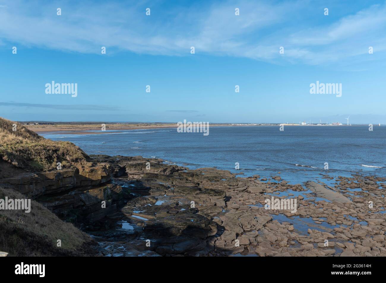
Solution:
M279 126L223 126L210 127L208 136L178 133L176 128L42 135L71 141L88 154L157 157L190 168L217 167L247 176L270 177L280 171L283 179L294 183L320 177L326 172L325 162L332 176L386 175L384 126L374 126L373 131L367 126L284 126L284 131ZM240 170L235 170L235 162Z

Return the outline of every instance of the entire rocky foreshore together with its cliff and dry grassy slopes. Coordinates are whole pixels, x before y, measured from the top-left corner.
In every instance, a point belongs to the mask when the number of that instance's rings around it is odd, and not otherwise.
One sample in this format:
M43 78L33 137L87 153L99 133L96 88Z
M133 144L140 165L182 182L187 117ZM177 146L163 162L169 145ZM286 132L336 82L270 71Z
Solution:
M31 214L0 211L2 252L386 256L385 177L323 171L327 184L289 184L280 172L238 177L156 158L88 156L20 124L13 131L13 123L0 119L0 197L27 197L33 205ZM11 231L28 249L14 244Z

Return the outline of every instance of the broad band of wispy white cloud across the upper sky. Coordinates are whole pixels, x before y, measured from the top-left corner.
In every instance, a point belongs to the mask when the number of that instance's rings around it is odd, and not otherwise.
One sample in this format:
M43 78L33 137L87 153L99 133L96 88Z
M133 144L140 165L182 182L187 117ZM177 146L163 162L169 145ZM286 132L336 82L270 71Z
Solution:
M58 7L61 16L56 15ZM146 7L151 16L145 15ZM235 7L240 16L235 16ZM377 52L386 49L385 4L315 26L301 19L307 9L307 1L242 0L162 8L159 2L146 1L15 0L0 5L0 40L96 54L105 46L110 53L188 56L195 46L196 54L314 65L351 64L353 58L367 54L368 46ZM298 24L294 17L299 17Z

